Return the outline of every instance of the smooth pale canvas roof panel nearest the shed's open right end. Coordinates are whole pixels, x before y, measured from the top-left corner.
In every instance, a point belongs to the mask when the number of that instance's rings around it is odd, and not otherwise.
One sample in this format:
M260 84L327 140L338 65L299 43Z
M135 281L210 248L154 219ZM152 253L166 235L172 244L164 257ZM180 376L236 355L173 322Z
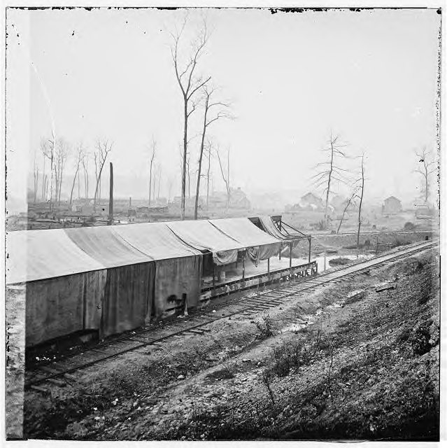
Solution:
M224 232L225 235L236 239L244 247L278 244L280 239L263 232L248 218L213 219L212 225Z

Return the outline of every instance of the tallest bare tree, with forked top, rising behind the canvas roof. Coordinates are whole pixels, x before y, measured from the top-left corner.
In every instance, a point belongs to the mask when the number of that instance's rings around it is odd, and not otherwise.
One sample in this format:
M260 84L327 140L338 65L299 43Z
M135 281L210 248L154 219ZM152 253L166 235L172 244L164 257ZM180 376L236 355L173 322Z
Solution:
M191 114L197 109L197 104L199 103L199 100L196 99L196 92L201 89L201 87L204 87L204 85L206 85L206 83L208 83L211 79L211 76L206 79L201 78L201 76L194 76L197 63L199 62L199 58L203 54L206 42L208 41L208 31L205 20L203 27L197 34L197 37L190 43L190 56L187 58L187 62L185 64L180 63L179 44L186 24L187 17L185 17L180 31L176 32L176 34L171 33L171 37L173 39L173 43L171 45L171 57L174 69L176 71L178 86L180 87L183 98L183 165L180 204L180 216L182 220L185 219L188 120L190 119Z

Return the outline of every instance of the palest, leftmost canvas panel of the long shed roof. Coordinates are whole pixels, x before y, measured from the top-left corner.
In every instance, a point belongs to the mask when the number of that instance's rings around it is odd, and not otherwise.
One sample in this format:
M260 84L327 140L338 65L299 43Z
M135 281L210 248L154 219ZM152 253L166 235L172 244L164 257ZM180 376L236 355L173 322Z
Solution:
M64 229L8 232L6 283L22 283L104 269Z

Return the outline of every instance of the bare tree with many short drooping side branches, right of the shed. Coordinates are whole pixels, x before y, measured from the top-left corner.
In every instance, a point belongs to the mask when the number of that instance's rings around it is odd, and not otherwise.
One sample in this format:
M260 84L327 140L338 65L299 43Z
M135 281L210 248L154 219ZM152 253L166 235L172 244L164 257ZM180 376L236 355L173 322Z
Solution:
M329 195L332 193L331 188L333 187L334 181L338 181L341 183L346 183L346 179L344 179L344 172L347 172L347 169L344 169L337 165L336 159L337 158L346 158L346 154L340 150L340 148L343 148L346 145L337 144L340 137L336 135L335 137L332 135L331 131L331 137L329 139L329 148L325 148L322 151L327 153L329 152L329 160L326 162L320 162L316 165L316 169L319 169L320 171L315 174L315 176L312 176L311 179L314 180L315 188L318 188L322 185L325 186L325 189L323 190L323 193L326 193L326 201L325 201L325 223L327 223L328 220L328 213L327 209L329 207Z

